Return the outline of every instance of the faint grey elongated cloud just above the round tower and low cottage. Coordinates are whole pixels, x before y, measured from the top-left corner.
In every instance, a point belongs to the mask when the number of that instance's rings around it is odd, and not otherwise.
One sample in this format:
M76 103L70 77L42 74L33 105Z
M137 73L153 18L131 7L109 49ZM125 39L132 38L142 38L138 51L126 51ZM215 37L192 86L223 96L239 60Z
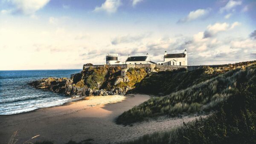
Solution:
M112 45L117 45L120 43L134 43L141 41L143 38L148 37L150 34L147 35L135 35L135 36L122 36L122 37L115 37L111 40Z

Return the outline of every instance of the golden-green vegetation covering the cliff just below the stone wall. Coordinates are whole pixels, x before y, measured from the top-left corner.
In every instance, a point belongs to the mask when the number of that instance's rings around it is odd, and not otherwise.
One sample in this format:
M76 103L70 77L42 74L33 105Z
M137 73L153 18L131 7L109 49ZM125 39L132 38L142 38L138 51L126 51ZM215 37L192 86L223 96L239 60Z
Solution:
M99 67L84 69L81 74L74 76L74 82L76 86L90 87L91 89L112 89L116 87L123 88L125 86L134 87L134 84L140 82L146 75L145 69L130 68L126 72L128 82L121 82L118 85L114 85L114 82L121 76L121 67Z

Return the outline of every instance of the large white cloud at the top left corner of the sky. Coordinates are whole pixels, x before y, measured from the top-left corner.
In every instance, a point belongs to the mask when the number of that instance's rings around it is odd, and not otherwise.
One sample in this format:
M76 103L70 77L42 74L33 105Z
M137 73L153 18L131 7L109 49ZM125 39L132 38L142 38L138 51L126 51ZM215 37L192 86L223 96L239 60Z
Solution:
M10 9L15 14L32 15L39 9L42 9L50 0L9 0L14 9Z

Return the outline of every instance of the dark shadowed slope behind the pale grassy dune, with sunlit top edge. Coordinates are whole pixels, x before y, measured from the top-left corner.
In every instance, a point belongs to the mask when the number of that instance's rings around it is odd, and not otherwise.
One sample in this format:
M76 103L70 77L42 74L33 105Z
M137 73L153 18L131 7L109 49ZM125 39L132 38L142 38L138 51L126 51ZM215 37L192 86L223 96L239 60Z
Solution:
M247 61L241 63L227 64L216 68L204 67L194 71L186 71L186 69L178 69L174 71L158 72L148 78L143 79L132 90L135 93L168 95L181 89L186 89L195 84L207 81L224 72L241 69L256 64L255 61Z

